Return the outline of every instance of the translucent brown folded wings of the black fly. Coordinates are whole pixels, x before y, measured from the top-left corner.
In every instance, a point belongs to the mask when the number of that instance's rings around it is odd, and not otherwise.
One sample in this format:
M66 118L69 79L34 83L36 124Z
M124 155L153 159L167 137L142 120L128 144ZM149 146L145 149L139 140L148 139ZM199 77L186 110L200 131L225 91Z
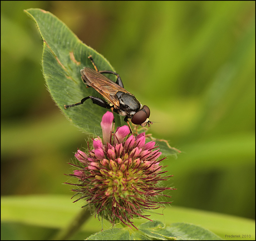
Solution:
M81 70L81 75L86 82L86 84L97 92L101 94L107 101L114 104L115 108L119 107L119 99L116 97L116 93L121 91L124 93L130 92L126 91L126 89L120 87L115 82L112 82L110 79L105 77L103 74L91 69L91 68L83 68Z

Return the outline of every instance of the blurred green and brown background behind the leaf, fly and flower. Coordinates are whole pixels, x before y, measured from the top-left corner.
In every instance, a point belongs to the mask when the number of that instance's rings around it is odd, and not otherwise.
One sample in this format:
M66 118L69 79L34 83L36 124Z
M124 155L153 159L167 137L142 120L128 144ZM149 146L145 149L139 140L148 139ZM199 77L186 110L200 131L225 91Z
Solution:
M71 195L63 173L87 140L47 92L27 8L60 18L150 107L149 133L183 152L165 160L173 206L255 218L254 1L1 1L2 195Z

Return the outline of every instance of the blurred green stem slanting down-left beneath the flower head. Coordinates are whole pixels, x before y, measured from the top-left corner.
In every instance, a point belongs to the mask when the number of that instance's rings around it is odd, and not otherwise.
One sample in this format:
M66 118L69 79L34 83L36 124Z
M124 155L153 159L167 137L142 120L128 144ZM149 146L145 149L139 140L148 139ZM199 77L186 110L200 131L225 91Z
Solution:
M57 235L53 238L53 240L67 240L69 239L73 234L75 234L82 226L83 223L86 222L88 218L91 217L91 213L88 210L88 207L82 208L81 212L77 214L75 219L68 224L68 226L60 232L57 233Z

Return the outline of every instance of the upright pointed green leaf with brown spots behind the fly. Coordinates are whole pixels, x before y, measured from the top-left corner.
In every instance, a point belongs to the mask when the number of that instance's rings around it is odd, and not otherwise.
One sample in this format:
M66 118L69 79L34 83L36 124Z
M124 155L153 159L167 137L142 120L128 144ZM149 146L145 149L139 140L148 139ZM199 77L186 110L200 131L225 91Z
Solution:
M87 101L86 104L65 109L65 104L80 102L87 96L100 95L92 88L86 88L81 80L80 70L91 67L88 56L92 55L97 68L115 71L110 63L80 39L52 13L42 9L27 9L28 16L37 24L43 39L42 67L48 91L61 111L80 129L93 136L102 135L100 122L106 109ZM113 75L108 75L112 81ZM119 125L120 116L115 116ZM125 122L124 122L125 123Z

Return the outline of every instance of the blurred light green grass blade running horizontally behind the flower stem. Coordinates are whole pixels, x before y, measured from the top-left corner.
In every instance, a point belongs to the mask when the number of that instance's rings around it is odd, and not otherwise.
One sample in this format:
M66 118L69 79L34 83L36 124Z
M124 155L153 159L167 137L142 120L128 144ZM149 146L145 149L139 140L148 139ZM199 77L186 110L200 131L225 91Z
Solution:
M70 195L9 196L2 197L1 202L2 223L5 222L7 225L11 225L12 223L21 223L23 225L34 225L34 227L47 228L66 227L70 220L73 219L73 216L81 210L81 206L84 204L81 201L71 205L72 200L70 200ZM150 219L157 219L165 223L168 232L174 232L171 231L174 229L183 229L184 232L185 230L189 230L192 227L191 225L177 224L186 222L200 225L201 227L209 229L221 238L225 239L239 239L227 237L227 235L232 234L247 234L249 237L247 240L255 239L255 221L251 219L175 206L166 207L163 210L164 215L159 215L158 213L159 212L149 213L151 215ZM150 224L153 225L152 222L139 225L145 222L145 219L134 219L134 221L135 220L135 225L140 230L150 228L148 227ZM147 225L147 227L144 225ZM175 227L175 225L178 225L178 227ZM87 232L87 236L83 234L82 238L85 239L88 235L99 232L101 227L101 222L92 215L89 222L82 227L82 232ZM196 226L193 227L195 230L198 230ZM103 228L104 230L111 228L111 224L104 221ZM122 232L125 232L125 230L126 229L122 229ZM130 228L127 230L130 230ZM31 232L31 230L29 232Z

